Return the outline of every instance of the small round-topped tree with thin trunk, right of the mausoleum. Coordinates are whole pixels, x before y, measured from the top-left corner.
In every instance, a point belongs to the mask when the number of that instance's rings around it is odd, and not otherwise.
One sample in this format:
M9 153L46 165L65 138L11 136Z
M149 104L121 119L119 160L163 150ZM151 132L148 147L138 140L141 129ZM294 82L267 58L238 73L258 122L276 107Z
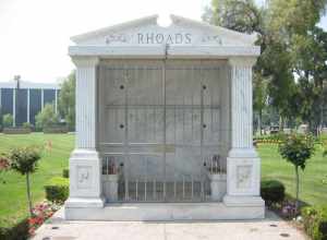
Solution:
M295 212L299 209L299 167L304 170L306 160L314 154L314 140L311 135L290 134L280 145L279 153L282 158L287 159L294 166L295 185L296 185L296 202Z

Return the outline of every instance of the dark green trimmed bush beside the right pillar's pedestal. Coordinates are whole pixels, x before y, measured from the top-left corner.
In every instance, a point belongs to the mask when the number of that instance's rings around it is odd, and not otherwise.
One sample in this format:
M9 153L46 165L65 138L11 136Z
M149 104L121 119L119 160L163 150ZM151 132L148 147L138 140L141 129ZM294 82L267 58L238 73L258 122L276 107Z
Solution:
M279 203L284 199L284 185L277 180L262 181L262 197L268 203Z

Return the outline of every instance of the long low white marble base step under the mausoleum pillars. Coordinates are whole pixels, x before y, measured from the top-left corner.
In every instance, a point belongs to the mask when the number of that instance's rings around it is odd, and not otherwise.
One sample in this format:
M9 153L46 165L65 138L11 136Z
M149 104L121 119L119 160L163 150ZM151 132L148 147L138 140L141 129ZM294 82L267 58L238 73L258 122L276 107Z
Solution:
M265 217L265 206L225 203L114 203L105 207L65 205L68 220L234 220Z

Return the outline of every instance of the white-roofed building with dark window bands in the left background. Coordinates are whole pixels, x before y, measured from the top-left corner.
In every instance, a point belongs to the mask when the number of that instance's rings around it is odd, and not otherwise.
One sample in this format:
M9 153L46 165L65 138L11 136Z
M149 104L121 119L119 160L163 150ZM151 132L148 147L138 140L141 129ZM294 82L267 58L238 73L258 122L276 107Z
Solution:
M35 124L35 116L46 104L53 104L58 111L60 85L20 81L0 82L0 116L13 116L13 127L24 122Z

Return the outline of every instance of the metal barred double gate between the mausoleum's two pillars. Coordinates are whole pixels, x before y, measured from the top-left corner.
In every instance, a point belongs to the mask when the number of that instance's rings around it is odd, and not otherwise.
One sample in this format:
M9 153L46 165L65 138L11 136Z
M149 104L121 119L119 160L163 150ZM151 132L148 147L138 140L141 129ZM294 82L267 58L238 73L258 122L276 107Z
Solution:
M199 202L206 165L219 156L219 65L204 61L111 62L100 68L102 173L118 201Z

